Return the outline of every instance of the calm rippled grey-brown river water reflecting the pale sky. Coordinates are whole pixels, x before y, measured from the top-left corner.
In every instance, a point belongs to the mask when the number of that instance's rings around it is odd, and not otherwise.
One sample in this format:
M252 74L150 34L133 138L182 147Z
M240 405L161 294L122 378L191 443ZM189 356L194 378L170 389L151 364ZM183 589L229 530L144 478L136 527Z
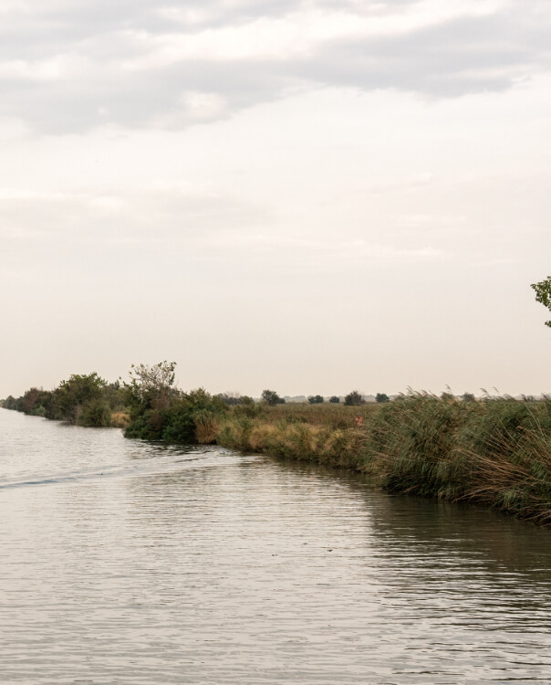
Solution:
M551 531L0 410L0 682L548 683Z

